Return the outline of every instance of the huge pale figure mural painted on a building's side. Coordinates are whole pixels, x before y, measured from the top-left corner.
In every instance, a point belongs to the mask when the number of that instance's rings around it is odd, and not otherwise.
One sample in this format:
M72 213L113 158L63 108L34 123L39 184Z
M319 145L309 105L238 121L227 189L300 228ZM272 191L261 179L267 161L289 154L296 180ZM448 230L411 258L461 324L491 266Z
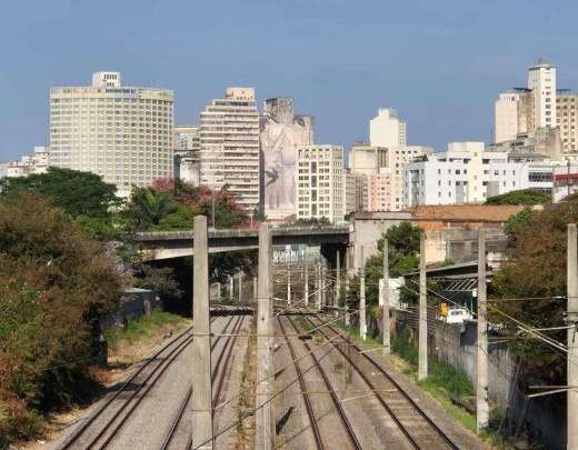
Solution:
M297 213L297 148L313 143L313 118L295 116L293 100L265 101L260 121L265 214L280 220Z

